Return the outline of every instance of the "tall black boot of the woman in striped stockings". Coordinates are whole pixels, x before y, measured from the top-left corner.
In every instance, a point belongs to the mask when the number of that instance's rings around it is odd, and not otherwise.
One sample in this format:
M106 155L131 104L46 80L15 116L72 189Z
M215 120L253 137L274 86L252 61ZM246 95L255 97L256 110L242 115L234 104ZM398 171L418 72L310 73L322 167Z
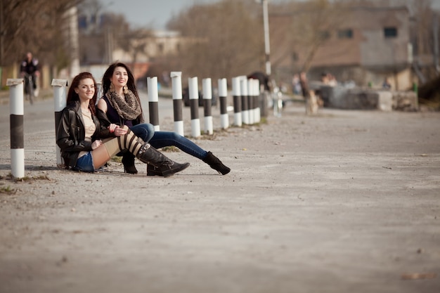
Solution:
M153 148L149 143L145 143L136 155L145 164L151 164L159 171L162 176L168 177L189 167L190 163L179 164L165 157L162 152Z

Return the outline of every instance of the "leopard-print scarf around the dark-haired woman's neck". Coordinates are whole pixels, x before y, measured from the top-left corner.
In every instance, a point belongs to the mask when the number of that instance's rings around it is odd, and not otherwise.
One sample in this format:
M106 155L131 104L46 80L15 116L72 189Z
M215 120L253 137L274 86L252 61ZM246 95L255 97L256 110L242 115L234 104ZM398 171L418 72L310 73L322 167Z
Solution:
M138 99L134 96L132 91L127 91L127 93L124 93L125 99L112 89L105 93L105 96L120 117L126 120L134 120L141 115L141 104L138 102Z

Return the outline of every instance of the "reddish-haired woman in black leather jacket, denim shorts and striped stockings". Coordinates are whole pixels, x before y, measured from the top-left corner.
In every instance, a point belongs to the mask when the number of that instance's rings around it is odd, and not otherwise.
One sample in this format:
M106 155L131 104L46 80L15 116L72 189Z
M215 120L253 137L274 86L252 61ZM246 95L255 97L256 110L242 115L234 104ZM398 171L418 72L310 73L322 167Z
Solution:
M67 93L67 105L57 129L57 144L67 168L93 172L122 150L152 164L165 177L189 167L189 163L179 164L165 157L127 126L101 127L96 117L95 89L92 74L82 72L72 80Z

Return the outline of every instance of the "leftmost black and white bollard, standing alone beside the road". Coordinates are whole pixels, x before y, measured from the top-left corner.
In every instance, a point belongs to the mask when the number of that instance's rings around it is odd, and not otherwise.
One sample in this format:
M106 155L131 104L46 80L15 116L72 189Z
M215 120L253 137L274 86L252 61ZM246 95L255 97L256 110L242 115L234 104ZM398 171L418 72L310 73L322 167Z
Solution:
M8 79L11 128L11 174L14 178L25 177L25 139L23 134L24 96L23 79Z

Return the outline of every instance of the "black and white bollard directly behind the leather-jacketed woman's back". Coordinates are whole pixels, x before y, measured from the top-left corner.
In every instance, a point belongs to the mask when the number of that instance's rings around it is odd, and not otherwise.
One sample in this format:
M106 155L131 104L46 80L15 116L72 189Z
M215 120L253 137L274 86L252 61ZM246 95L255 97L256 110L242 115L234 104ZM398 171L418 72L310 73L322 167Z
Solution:
M58 125L60 125L62 111L67 103L67 79L52 79L53 87L53 108L55 110L55 140L57 141ZM63 157L61 157L60 147L55 143L56 148L56 166L65 167Z

